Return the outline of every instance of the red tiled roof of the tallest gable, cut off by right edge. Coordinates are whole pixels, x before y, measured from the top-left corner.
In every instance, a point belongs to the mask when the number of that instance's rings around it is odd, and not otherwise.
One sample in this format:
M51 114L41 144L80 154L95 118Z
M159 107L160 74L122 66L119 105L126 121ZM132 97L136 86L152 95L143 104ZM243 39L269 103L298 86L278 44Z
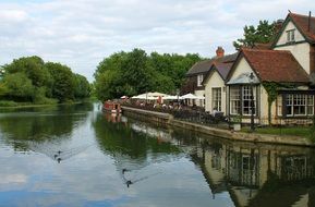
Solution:
M308 16L301 15L295 13L289 13L291 20L295 23L295 25L300 28L304 36L306 36L310 40L315 41L315 17L311 16L311 24L308 31Z

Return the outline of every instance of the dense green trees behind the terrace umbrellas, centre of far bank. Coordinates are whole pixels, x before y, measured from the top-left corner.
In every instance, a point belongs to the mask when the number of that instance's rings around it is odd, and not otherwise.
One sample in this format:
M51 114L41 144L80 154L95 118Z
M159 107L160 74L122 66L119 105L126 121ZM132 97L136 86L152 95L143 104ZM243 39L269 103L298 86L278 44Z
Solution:
M147 53L142 49L113 53L104 59L94 74L95 93L100 100L146 92L173 94L185 80L198 54Z

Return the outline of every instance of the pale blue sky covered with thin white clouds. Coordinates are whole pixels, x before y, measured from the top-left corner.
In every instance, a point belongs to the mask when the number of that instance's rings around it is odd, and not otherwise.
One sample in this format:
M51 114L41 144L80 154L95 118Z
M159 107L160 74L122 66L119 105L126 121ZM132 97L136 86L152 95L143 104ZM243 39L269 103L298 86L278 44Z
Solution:
M0 0L0 64L24 56L68 64L93 81L97 64L121 50L215 56L234 51L243 26L315 15L312 0Z

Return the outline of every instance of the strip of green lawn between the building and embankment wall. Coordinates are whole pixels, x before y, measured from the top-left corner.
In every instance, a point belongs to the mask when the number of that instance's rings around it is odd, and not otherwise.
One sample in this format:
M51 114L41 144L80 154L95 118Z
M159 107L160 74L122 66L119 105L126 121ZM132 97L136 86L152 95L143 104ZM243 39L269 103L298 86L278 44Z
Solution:
M249 129L243 129L242 131L250 132ZM266 126L266 127L255 129L255 133L310 137L310 135L312 134L312 127L311 126L281 126L281 127Z

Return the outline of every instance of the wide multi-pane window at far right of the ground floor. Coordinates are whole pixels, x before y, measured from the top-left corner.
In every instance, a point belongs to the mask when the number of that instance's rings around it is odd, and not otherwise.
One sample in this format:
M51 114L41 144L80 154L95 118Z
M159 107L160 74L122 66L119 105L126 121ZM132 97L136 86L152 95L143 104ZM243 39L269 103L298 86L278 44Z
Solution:
M286 99L286 112L288 117L313 115L314 96L302 94L289 94Z

